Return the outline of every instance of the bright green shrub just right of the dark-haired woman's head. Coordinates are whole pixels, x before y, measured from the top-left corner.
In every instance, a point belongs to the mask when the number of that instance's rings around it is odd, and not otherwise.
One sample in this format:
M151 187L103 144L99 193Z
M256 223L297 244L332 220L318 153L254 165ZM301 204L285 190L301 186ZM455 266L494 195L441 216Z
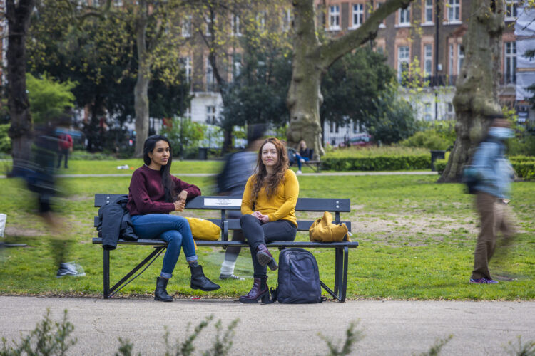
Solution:
M206 129L206 125L191 121L190 118L180 120L179 117L175 117L170 127L164 127L161 130L161 135L165 135L171 142L173 155L178 155L180 152L180 140L182 140L185 152L196 150L198 142L205 137Z

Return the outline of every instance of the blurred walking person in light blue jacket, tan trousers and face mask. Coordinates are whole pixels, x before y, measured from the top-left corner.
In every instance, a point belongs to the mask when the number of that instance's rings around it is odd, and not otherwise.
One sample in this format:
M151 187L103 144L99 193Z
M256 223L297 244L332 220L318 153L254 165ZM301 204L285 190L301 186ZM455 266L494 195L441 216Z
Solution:
M504 141L514 137L509 121L503 117L494 118L486 139L477 147L472 166L478 181L475 203L481 221L481 232L474 251L474 270L470 283L498 283L491 278L489 261L494 255L497 233L504 235L501 244L511 244L514 229L507 214L506 204L514 171L505 157Z

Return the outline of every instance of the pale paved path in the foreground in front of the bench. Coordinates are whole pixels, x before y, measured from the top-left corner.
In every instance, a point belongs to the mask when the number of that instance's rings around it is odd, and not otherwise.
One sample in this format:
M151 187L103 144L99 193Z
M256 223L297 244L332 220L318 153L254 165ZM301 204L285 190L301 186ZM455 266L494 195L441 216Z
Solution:
M486 288L486 286L474 286ZM442 355L508 355L518 335L535 340L535 302L350 301L318 305L245 305L233 300L0 297L0 336L26 335L46 311L60 320L64 309L75 325L78 343L70 355L113 355L118 337L128 338L133 351L163 355L164 325L170 341L186 335L188 323L214 315L223 325L239 318L231 355L326 355L317 333L341 340L352 320L365 337L352 355L414 355L437 339L453 335ZM212 322L195 342L207 350L215 337ZM195 355L199 355L196 352Z

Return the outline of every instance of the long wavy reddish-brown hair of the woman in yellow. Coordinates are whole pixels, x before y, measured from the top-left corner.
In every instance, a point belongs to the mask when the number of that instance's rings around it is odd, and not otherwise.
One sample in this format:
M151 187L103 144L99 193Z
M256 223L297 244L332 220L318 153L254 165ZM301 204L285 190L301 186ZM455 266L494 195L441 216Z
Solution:
M275 167L273 167L275 173L271 175L267 175L267 169L265 169L265 164L262 162L262 149L266 143L272 143L275 145L275 149L277 150L277 164L275 164ZM279 186L280 182L284 180L284 175L286 174L288 167L290 167L290 164L288 164L286 145L275 137L267 138L260 146L260 150L258 150L258 159L256 163L256 173L253 185L253 204L256 203L258 193L263 187L265 187L265 194L268 198L272 197L273 194L277 192L277 187Z

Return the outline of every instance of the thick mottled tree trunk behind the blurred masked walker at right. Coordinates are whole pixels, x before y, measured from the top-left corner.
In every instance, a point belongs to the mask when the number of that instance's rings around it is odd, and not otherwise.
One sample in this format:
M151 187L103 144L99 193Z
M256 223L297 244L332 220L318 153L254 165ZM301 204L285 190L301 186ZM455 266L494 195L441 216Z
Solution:
M453 98L457 140L438 182L459 182L464 164L469 162L488 130L492 115L500 115L497 88L504 4L495 0L472 0L473 14L463 37L464 62Z

